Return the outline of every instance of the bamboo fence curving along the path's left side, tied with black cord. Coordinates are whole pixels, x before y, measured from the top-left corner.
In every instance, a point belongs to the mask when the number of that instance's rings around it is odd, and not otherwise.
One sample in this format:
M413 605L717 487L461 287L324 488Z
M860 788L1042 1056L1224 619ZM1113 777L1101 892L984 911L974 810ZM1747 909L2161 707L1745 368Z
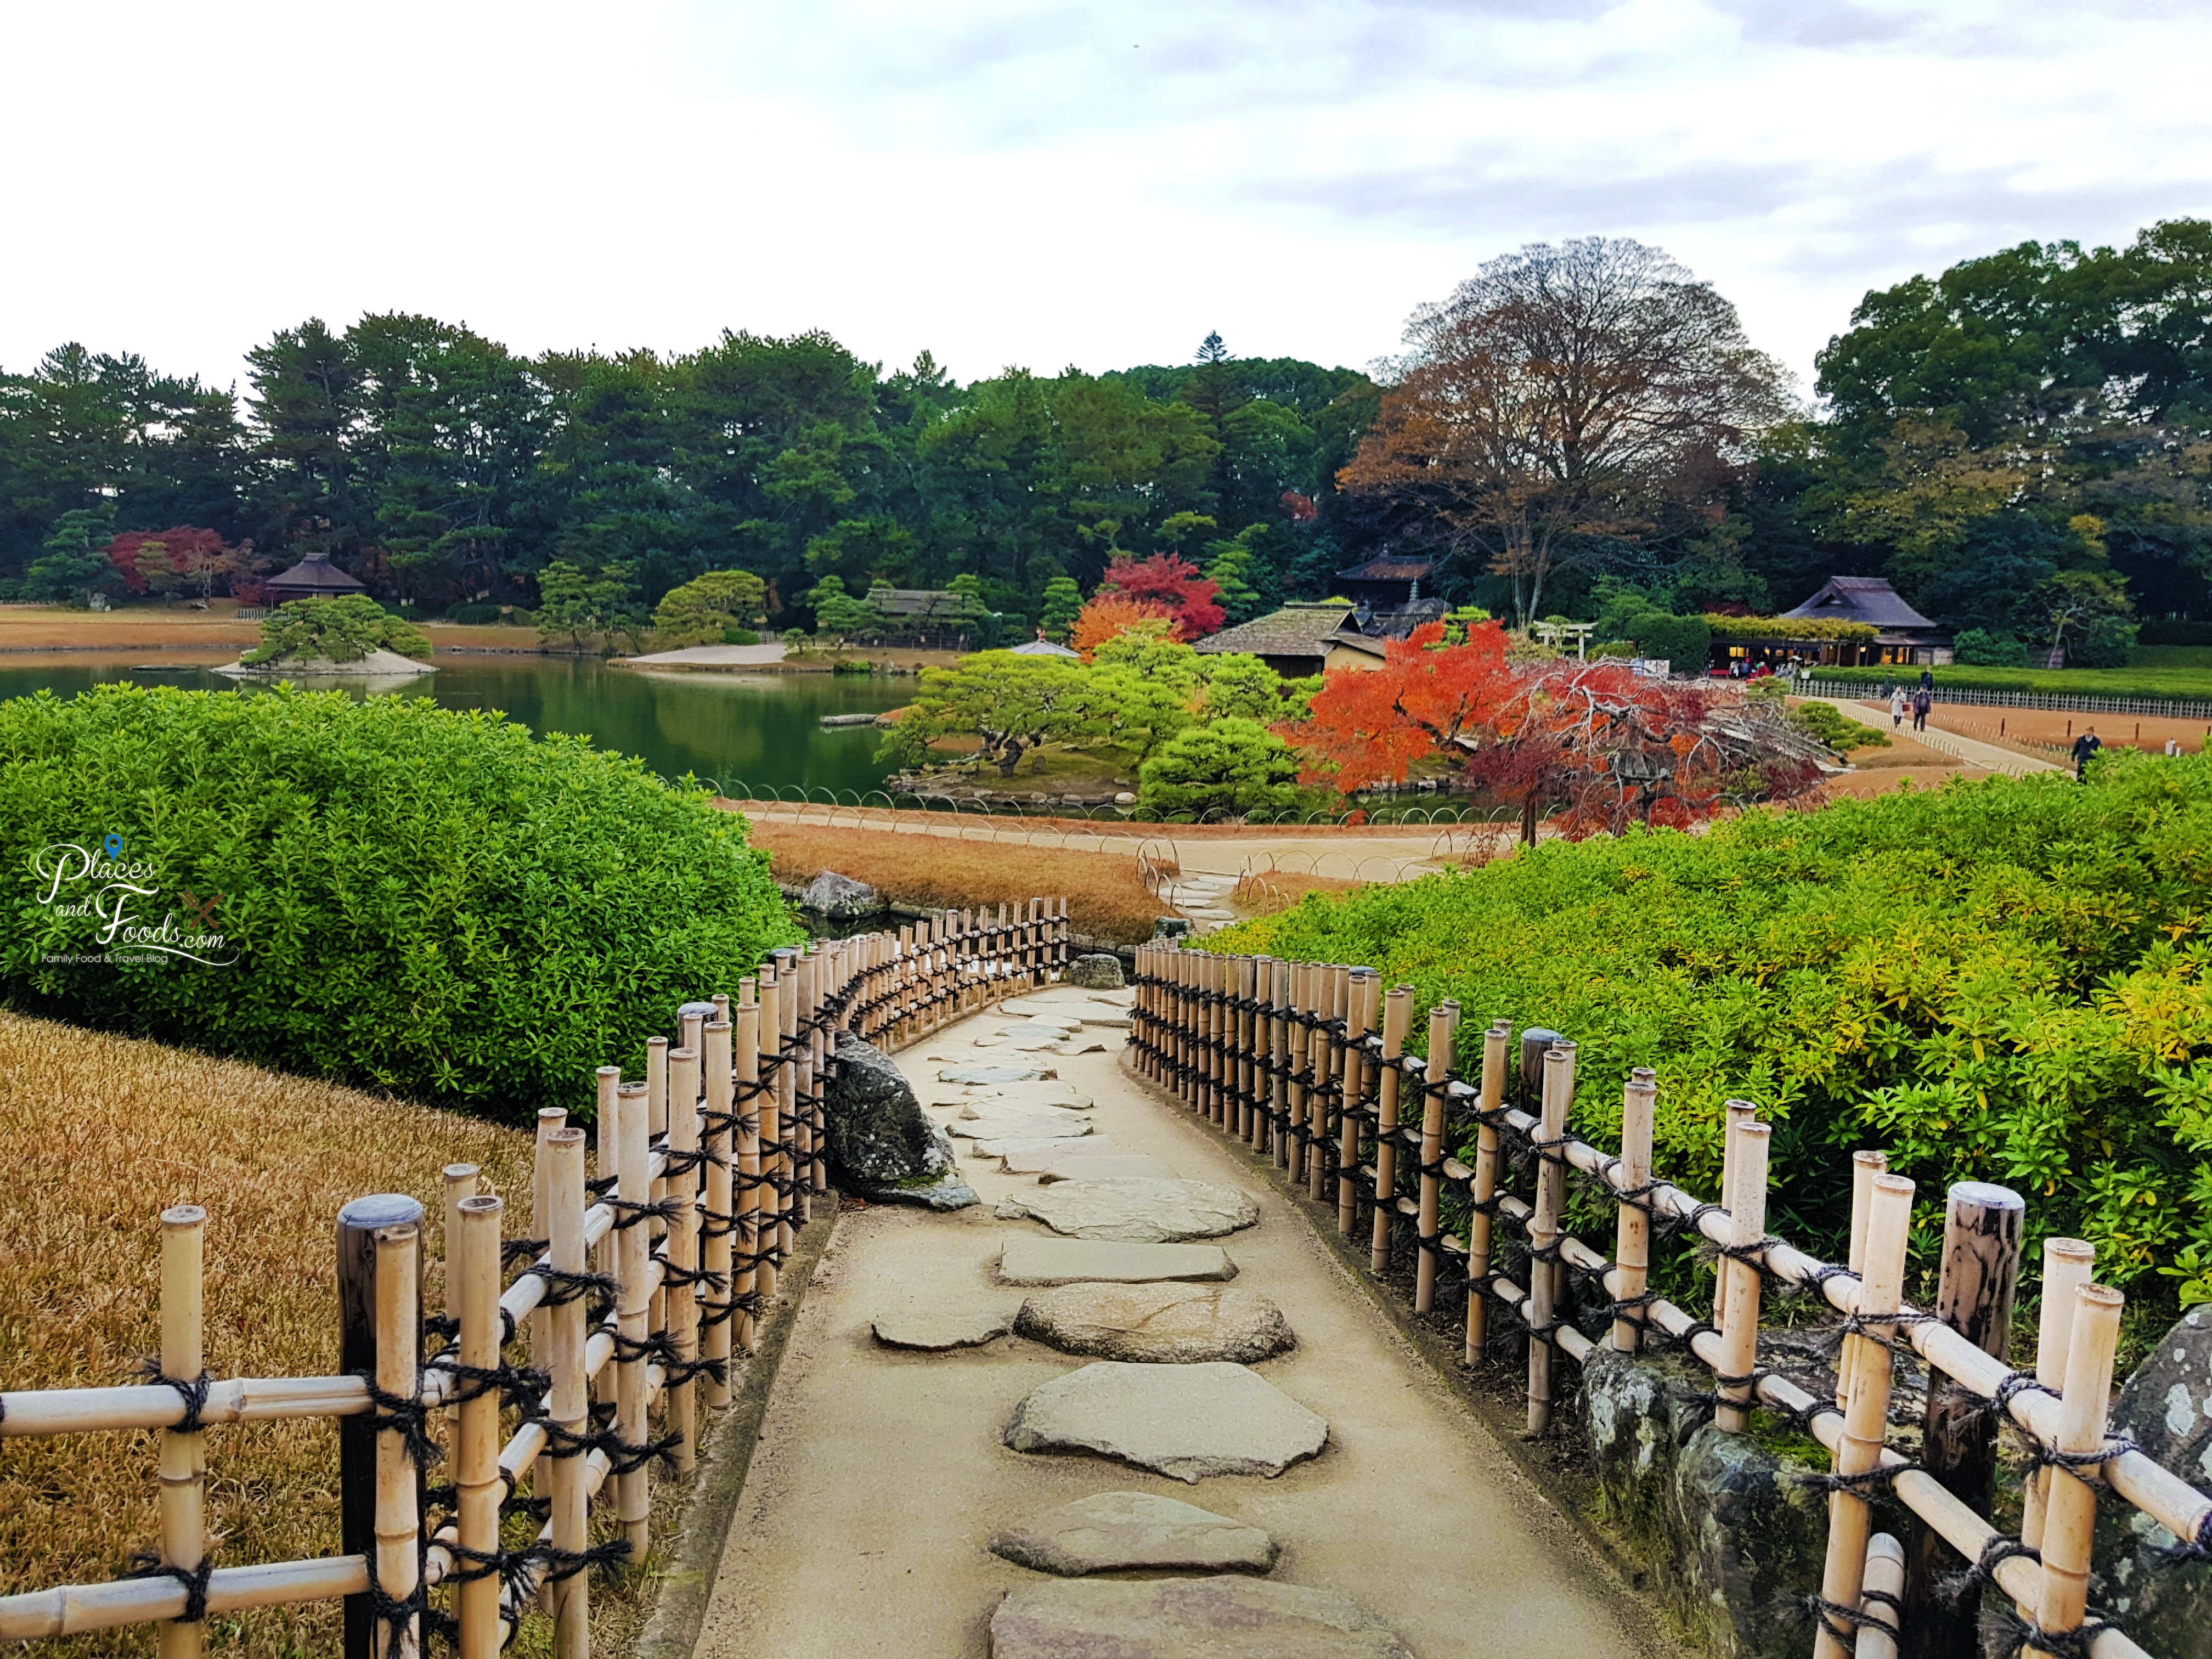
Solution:
M345 1597L347 1659L416 1659L427 1639L491 1659L533 1606L553 1615L553 1652L586 1659L591 1571L646 1557L653 1467L695 1467L830 1192L836 1033L898 1048L1066 960L1064 898L776 951L734 1000L684 1004L675 1035L646 1042L644 1079L599 1068L597 1179L584 1130L540 1113L526 1234L507 1237L476 1166L445 1170L438 1316L422 1314L422 1206L349 1203L338 1376L210 1378L208 1214L164 1210L157 1380L0 1394L0 1438L161 1431L159 1555L111 1584L0 1597L0 1641L153 1621L161 1659L190 1659L210 1613ZM341 1420L345 1553L217 1566L208 1431L288 1418ZM431 1464L449 1484L427 1486Z

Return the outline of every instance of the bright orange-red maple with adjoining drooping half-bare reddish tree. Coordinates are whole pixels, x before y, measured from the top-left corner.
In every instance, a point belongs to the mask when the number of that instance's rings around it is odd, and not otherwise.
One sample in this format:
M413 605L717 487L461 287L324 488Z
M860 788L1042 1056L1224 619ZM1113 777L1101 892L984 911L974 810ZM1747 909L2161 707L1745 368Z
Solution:
M1389 641L1380 668L1329 675L1312 717L1276 728L1298 750L1298 781L1352 794L1451 754L1467 783L1520 803L1535 841L1544 803L1559 807L1562 834L1582 838L1630 823L1688 827L1732 779L1796 794L1818 776L1809 761L1765 752L1756 721L1714 721L1732 690L1637 679L1619 664L1515 666L1495 622L1464 646L1442 639L1431 622Z

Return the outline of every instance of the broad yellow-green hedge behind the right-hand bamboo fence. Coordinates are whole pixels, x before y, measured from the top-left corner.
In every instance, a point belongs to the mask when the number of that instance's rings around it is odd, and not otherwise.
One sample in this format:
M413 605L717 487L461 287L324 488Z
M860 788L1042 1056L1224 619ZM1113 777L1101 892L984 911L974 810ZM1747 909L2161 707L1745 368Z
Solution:
M1575 1121L1617 1146L1659 1068L1657 1166L1712 1194L1723 1102L1774 1121L1770 1225L1838 1252L1851 1150L2028 1199L2031 1245L2095 1241L2132 1294L2212 1301L2212 757L2112 754L1708 834L1544 843L1467 874L1310 898L1210 949L1358 962L1579 1044ZM2031 1250L2028 1261L2035 1261Z

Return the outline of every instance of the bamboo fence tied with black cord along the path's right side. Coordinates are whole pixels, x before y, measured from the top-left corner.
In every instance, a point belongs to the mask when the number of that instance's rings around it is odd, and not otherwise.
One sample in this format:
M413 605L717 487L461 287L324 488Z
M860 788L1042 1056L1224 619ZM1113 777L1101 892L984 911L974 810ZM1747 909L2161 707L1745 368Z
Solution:
M1429 1057L1411 1055L1413 989L1385 993L1374 969L1152 942L1135 984L1130 1046L1146 1077L1332 1203L1371 1272L1411 1256L1413 1312L1462 1310L1469 1363L1493 1338L1526 1343L1531 1433L1551 1425L1562 1356L1670 1345L1712 1369L1697 1398L1721 1431L1743 1433L1767 1409L1818 1440L1832 1471L1803 1475L1829 1504L1820 1586L1805 1593L1816 1659L1882 1659L1900 1628L1907 1650L1980 1652L1978 1617L2004 1626L2013 1650L2143 1655L2088 1613L2099 1498L2163 1526L2177 1555L2212 1557L2212 1498L2106 1431L2121 1294L2093 1283L2086 1243L2046 1241L2035 1369L2004 1363L2022 1212L2004 1188L1951 1188L1942 1285L1918 1310L1905 1303L1913 1183L1880 1152L1854 1157L1849 1261L1827 1263L1765 1228L1767 1126L1750 1102L1730 1102L1721 1201L1708 1203L1652 1172L1652 1071L1621 1088L1619 1152L1575 1135L1575 1044L1557 1031L1524 1029L1515 1053L1513 1026L1493 1022L1480 1077L1464 1082L1451 1075L1460 1006L1436 1004ZM1610 1206L1610 1254L1566 1230L1571 1179ZM1464 1237L1442 1230L1447 1210ZM1712 1254L1710 1318L1650 1290L1652 1245L1674 1232ZM1759 1363L1770 1287L1840 1314L1834 1398ZM1493 1329L1493 1314L1509 1327ZM1929 1367L1918 1462L1887 1444L1907 1347ZM2031 1447L2020 1537L1986 1520L2000 1422ZM1882 1493L1924 1524L1913 1555L1874 1531ZM1953 1568L1949 1584L1938 1568ZM2002 1597L1982 1601L1984 1586ZM1938 1641L1916 1641L1922 1619L1942 1626Z

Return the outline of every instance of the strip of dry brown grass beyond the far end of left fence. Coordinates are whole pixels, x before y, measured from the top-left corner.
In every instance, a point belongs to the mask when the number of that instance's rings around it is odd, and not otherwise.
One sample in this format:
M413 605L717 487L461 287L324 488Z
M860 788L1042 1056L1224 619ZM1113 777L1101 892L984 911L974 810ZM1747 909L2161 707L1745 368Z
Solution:
M752 841L768 849L779 880L812 880L834 869L925 909L1026 905L1064 894L1077 933L1115 942L1152 938L1152 918L1161 914L1137 878L1135 841L1128 854L1060 852L772 818L752 818Z

